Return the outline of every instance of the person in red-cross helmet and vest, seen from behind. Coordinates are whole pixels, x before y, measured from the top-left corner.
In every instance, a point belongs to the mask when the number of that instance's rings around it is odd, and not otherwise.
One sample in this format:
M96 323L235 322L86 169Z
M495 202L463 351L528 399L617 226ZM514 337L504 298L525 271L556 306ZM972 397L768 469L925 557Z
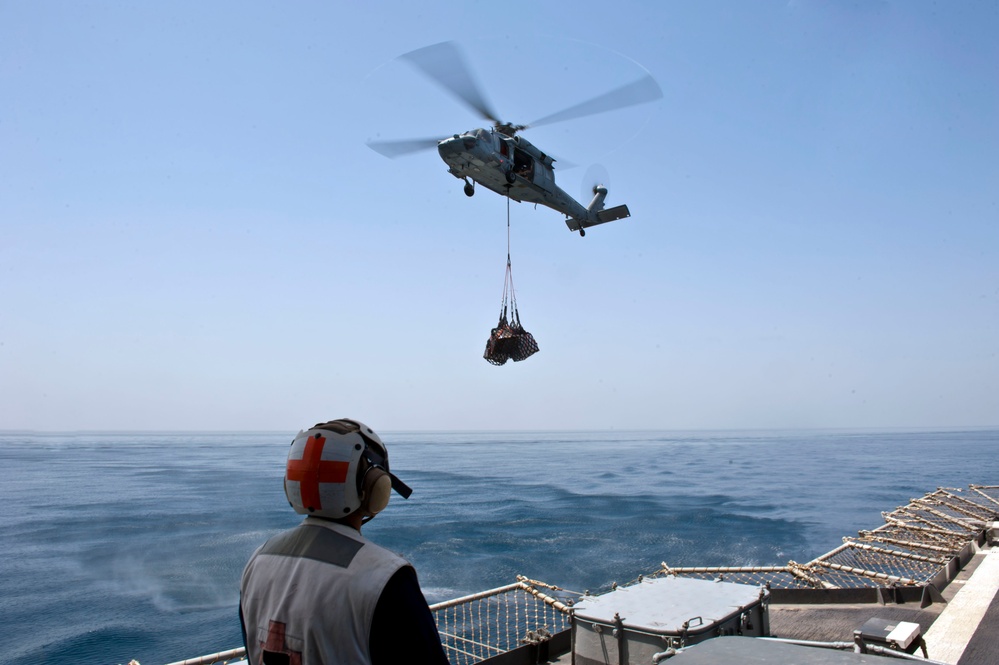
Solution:
M253 553L240 585L252 665L448 662L413 566L361 535L392 490L412 493L367 425L341 419L298 433L284 491L307 517Z

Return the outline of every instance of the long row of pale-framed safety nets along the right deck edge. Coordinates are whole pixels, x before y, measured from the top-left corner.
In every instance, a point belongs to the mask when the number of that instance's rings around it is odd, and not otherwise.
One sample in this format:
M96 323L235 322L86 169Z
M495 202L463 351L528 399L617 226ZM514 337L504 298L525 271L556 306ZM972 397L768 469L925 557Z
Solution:
M999 519L999 485L971 485L966 493L942 487L882 517L884 525L844 538L842 545L808 563L670 567L663 562L652 577L677 575L775 589L925 586L989 522Z

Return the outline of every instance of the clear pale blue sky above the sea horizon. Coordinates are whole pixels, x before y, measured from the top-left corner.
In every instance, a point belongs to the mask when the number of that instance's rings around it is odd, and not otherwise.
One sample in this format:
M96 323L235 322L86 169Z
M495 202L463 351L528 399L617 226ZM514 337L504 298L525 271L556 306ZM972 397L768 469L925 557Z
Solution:
M999 424L992 2L0 1L0 429ZM456 41L631 219L506 204L395 58Z

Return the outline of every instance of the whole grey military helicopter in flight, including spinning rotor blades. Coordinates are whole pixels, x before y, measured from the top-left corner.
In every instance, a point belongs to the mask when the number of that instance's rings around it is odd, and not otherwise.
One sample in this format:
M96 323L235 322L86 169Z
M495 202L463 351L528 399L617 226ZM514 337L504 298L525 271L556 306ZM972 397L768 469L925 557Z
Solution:
M520 136L520 132L655 101L662 97L662 90L650 75L532 123L516 125L499 120L453 42L426 46L399 58L493 124L444 138L369 141L371 149L394 158L436 147L448 173L464 180L466 196L473 196L478 184L514 201L541 204L564 214L566 226L580 236L585 236L591 226L631 216L627 205L604 207L604 184L594 185L593 199L585 206L563 191L555 184L555 158Z

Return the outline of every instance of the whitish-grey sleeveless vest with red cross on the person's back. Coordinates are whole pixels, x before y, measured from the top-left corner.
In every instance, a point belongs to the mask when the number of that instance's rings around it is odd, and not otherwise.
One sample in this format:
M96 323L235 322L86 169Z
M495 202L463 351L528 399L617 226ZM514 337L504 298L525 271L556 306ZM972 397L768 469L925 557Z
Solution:
M264 650L291 663L371 663L368 637L385 584L409 563L356 530L308 517L264 543L246 564L240 604L247 658Z

